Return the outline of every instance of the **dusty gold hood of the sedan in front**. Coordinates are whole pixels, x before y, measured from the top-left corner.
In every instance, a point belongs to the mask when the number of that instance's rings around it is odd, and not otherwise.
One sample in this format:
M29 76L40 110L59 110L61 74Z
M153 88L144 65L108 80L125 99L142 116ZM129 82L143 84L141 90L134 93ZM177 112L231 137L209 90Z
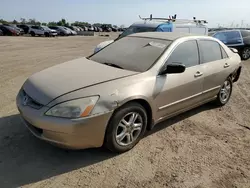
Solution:
M33 100L47 105L66 93L134 74L137 72L80 58L35 73L26 80L23 89Z

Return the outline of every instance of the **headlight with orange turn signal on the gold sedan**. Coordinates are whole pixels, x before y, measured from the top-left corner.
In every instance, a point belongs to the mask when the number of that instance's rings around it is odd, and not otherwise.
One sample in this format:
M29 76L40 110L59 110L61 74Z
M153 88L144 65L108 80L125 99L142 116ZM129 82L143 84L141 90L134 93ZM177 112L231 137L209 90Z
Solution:
M98 96L93 96L63 102L50 108L45 115L63 118L86 117L91 113L98 99Z

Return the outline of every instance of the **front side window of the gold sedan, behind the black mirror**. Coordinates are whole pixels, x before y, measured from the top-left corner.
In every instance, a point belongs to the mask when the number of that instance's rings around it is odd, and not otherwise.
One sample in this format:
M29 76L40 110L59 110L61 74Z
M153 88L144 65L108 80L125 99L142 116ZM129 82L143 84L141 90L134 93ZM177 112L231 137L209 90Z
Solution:
M186 67L198 65L199 54L196 41L186 41L177 46L167 63L183 63Z

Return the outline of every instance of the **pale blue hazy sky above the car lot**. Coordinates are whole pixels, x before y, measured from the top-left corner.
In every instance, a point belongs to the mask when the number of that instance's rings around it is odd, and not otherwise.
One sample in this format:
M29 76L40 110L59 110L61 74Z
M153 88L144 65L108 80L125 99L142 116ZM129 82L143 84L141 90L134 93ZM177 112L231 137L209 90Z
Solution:
M128 27L142 17L206 19L209 27L250 26L250 0L1 0L0 19L35 18L40 22L87 21Z

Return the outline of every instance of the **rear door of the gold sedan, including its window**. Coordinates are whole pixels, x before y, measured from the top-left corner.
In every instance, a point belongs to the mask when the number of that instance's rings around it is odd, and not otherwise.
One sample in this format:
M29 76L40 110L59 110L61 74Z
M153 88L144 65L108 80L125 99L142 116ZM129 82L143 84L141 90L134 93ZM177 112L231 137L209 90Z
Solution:
M201 66L204 70L203 99L214 97L230 74L228 55L223 47L213 40L198 40Z

